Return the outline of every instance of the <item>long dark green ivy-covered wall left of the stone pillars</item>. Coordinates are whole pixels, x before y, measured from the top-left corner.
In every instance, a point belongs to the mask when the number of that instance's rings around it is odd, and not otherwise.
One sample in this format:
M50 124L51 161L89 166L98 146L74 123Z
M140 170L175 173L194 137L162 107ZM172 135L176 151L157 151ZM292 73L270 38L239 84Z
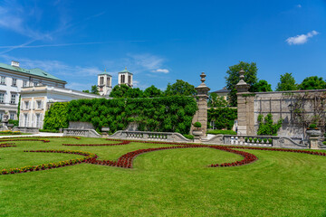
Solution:
M46 113L47 122L52 122L54 119L51 115L58 112L53 111L58 109L54 105ZM137 122L139 130L143 131L188 134L197 110L196 100L183 96L153 99L78 99L66 105L66 125L69 121L91 122L96 130L110 127L111 133L125 129L130 122ZM45 125L45 120L44 128L57 127L54 124Z

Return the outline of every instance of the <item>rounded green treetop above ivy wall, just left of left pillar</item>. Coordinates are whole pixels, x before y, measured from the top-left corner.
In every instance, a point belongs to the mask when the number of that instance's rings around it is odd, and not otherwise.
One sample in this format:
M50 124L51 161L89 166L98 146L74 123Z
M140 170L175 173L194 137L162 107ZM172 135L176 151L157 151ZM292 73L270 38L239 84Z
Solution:
M197 90L195 90L195 86L189 84L183 80L177 80L174 84L168 83L167 90L165 90L166 96L193 96L197 94Z

